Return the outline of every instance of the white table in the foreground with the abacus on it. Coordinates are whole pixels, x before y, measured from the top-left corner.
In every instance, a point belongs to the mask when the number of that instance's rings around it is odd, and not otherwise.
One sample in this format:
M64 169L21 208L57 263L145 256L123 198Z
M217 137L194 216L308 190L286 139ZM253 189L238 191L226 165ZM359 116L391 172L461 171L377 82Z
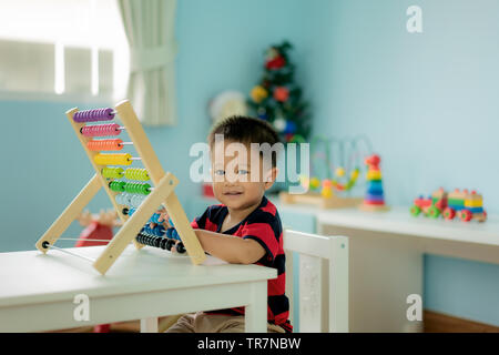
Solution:
M91 258L104 246L68 248ZM208 258L210 260L210 258ZM0 332L37 332L245 306L246 332L266 332L267 280L275 268L192 265L189 257L130 245L103 276L91 263L51 250L0 253ZM89 297L89 321L75 321L77 295Z

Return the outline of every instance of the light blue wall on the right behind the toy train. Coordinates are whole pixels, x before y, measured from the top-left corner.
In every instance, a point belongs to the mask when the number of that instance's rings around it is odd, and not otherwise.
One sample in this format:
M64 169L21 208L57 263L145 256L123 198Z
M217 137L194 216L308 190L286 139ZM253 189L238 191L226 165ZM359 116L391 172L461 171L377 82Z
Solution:
M419 34L406 31L411 4L422 9ZM390 204L467 187L498 213L499 2L325 0L318 9L310 37L322 55L307 87L316 132L368 134ZM427 308L497 325L498 288L499 265L425 257Z

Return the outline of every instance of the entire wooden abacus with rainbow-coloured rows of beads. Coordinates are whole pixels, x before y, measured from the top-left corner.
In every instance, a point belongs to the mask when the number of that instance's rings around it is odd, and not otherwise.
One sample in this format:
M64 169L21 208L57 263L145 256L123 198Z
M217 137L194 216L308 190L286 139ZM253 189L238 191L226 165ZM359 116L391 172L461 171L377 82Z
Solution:
M170 231L170 236L180 235L177 239L182 242L179 252L183 246L193 264L203 263L206 255L174 191L179 180L172 173L163 171L131 103L124 100L118 103L114 110L108 108L79 111L74 108L65 114L95 170L95 174L39 239L35 244L37 248L42 253L54 248L80 256L91 261L96 271L105 274L130 242L133 242L136 248L150 245L166 250L172 246L172 239L162 236L169 231L164 231L161 225L154 229L149 226L149 222L157 222L159 214L155 212L164 206L177 232L173 234ZM116 114L123 126L115 122L94 124L100 121L111 121ZM132 142L109 139L109 136L119 135L123 130L126 131ZM102 136L108 136L108 139L94 139ZM132 156L130 153L102 153L102 151L121 151L124 145L132 144L139 156ZM124 170L121 168L130 166L134 161L141 161L145 169L129 168ZM126 181L120 179L126 179ZM59 239L63 240L60 237L61 234L80 215L83 207L101 187L106 192L118 217L123 222L123 226L109 242L102 254L96 260L90 260L54 246Z

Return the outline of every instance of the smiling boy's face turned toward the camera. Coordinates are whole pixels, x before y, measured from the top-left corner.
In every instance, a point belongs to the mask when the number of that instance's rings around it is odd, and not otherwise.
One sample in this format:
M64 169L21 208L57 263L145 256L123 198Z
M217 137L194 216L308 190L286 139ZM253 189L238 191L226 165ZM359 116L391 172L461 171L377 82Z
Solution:
M248 209L262 201L277 176L249 145L224 141L212 146L212 179L215 197L232 210Z

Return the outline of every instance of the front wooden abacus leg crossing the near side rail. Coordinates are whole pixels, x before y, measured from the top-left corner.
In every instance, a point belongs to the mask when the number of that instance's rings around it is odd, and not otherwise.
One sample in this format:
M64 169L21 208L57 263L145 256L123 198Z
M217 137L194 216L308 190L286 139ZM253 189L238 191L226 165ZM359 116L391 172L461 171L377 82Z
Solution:
M94 262L93 266L105 274L108 268L123 253L126 245L135 239L144 224L156 209L173 193L179 184L179 180L171 173L167 173L157 184L153 192L144 200L135 213L126 221L120 232L111 240L104 252Z

